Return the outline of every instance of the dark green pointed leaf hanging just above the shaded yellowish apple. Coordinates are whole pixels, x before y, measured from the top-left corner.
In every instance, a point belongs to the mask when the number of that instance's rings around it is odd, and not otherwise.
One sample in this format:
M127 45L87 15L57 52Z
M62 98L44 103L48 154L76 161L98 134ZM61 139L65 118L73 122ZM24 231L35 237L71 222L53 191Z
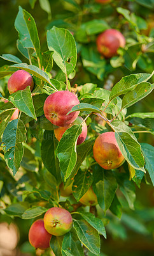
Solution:
M78 171L73 182L73 195L77 201L79 201L80 198L83 195L85 195L87 190L92 185L92 182L93 182L93 178L90 172L88 171L82 172L81 170Z

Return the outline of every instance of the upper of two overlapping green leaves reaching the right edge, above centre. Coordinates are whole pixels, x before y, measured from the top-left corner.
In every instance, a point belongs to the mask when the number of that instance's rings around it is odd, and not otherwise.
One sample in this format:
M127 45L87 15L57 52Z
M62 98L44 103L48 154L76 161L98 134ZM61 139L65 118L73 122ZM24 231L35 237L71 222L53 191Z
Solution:
M130 76L123 77L111 90L109 100L134 90L137 84L148 81L153 74L132 74Z

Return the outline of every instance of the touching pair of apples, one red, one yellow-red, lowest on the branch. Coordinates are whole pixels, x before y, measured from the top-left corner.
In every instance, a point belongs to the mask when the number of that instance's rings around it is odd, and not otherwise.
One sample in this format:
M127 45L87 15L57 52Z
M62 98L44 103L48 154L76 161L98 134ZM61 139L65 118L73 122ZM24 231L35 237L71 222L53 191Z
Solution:
M29 229L29 243L35 248L45 250L50 247L52 236L62 236L69 232L72 226L72 216L66 209L52 207L46 211L43 219L32 223Z

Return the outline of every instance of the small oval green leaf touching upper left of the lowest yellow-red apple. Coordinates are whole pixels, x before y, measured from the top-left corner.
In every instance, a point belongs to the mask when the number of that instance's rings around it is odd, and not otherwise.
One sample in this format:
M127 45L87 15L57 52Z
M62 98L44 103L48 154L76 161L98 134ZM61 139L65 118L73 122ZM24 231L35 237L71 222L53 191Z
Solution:
M33 207L27 209L27 210L22 214L22 219L24 219L24 220L33 219L33 218L36 218L36 217L42 215L42 214L45 213L46 211L47 211L47 209L46 209L45 207L33 206Z

